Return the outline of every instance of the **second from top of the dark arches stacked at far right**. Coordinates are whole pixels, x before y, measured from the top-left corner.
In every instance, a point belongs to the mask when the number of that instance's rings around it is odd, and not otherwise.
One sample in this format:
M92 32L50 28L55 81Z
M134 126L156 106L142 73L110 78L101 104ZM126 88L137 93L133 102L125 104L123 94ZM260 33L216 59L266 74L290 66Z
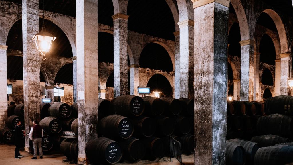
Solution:
M275 46L272 39L267 34L264 34L260 40L259 52L260 52L259 61L261 63L275 65L275 60L276 60Z

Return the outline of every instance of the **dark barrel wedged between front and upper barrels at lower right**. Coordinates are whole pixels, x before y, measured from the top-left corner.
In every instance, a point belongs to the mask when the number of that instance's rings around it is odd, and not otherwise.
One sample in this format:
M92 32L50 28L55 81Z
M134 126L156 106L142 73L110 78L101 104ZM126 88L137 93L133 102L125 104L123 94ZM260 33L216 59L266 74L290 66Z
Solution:
M290 140L277 135L262 135L252 137L251 142L257 143L259 147L268 147L279 143L290 142Z

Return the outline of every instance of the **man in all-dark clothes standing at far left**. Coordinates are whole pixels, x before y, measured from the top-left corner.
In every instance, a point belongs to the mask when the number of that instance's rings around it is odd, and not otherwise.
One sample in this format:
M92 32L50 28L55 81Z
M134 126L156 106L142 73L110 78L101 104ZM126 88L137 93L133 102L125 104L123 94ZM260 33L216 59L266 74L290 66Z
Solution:
M16 127L14 128L14 143L16 145L15 147L15 152L14 152L14 159L20 159L21 157L23 157L23 155L21 155L19 153L19 148L23 147L23 137L25 136L25 133L21 131L21 121L18 121L18 123L16 124Z

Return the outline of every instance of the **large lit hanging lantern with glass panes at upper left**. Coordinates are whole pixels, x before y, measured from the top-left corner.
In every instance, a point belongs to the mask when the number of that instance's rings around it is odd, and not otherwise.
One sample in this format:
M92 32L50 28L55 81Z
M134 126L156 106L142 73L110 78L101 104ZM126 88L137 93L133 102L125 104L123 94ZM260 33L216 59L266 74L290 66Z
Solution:
M45 27L42 27L42 31L35 34L33 40L35 40L38 51L42 54L43 60L46 60L45 55L50 51L52 42L56 39L55 36L48 33Z

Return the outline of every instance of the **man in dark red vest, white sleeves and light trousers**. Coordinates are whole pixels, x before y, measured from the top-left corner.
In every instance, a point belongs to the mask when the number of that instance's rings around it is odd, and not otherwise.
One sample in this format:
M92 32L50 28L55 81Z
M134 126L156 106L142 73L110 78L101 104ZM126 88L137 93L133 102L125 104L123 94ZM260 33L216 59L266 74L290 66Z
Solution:
M34 157L32 157L32 159L37 159L37 148L39 148L40 159L43 159L42 137L43 137L43 129L38 124L38 122L34 120L33 127L30 129L30 140L33 141L33 147L34 147Z

